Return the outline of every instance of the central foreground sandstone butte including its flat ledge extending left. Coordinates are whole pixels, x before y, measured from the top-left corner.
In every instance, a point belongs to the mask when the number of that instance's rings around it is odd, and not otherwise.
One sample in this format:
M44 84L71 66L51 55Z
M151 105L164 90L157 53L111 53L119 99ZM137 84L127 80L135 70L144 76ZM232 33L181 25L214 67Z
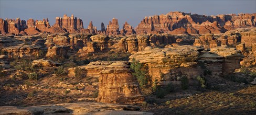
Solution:
M87 77L99 78L98 102L104 103L138 103L144 100L136 77L131 73L129 62L97 61L78 66L86 72ZM69 77L75 76L69 68Z

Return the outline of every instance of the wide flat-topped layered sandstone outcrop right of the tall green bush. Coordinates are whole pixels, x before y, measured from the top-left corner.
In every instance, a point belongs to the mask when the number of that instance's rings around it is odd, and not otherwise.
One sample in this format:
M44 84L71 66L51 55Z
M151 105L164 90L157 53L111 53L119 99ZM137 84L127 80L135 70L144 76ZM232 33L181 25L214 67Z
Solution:
M194 78L203 75L206 68L202 68L199 62L219 76L231 74L236 68L240 68L243 55L234 48L216 47L210 52L203 50L190 45L165 49L146 47L129 59L146 64L152 80L157 79L162 84L177 82L180 76Z

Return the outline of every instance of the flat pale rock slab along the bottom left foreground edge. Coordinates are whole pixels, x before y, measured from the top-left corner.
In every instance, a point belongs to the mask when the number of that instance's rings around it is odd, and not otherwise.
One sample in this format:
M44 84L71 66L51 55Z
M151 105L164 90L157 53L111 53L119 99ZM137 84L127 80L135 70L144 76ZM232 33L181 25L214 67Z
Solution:
M98 102L59 103L31 107L0 107L2 114L154 114L139 111L140 108L131 105L117 105Z

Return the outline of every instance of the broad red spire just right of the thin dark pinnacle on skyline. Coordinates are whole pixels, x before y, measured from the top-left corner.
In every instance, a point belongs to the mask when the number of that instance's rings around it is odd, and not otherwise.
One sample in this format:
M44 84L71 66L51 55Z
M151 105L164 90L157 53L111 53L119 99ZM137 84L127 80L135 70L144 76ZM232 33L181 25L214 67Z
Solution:
M118 19L113 18L112 22L109 21L109 25L106 26L107 35L120 35Z

